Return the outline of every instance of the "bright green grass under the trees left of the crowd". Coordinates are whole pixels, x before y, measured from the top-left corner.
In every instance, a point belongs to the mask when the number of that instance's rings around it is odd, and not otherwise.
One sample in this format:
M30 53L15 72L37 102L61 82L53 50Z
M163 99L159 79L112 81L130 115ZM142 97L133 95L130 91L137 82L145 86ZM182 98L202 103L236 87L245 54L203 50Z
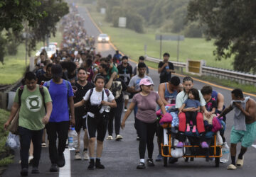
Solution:
M60 42L62 40L61 33L56 33L55 38L50 38L50 42ZM43 46L43 42L38 42L37 49ZM0 84L14 84L16 81L22 78L25 70L26 70L26 62L25 62L25 44L21 44L18 46L17 55L6 55L4 57L4 65L0 63ZM36 51L31 53L31 56L34 56ZM27 64L29 65L29 57Z

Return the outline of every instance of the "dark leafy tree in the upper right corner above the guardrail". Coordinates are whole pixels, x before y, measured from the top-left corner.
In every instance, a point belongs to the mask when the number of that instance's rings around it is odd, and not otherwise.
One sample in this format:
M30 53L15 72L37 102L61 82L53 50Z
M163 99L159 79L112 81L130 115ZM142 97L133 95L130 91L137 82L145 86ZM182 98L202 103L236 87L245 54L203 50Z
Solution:
M214 39L213 54L220 60L235 55L233 67L256 73L256 1L192 0L188 20L206 25L206 38Z

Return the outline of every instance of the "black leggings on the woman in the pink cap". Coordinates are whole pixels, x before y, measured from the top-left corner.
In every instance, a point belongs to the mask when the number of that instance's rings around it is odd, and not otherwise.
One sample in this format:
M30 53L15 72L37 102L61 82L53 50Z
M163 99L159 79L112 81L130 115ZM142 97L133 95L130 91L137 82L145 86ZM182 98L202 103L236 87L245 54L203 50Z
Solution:
M152 158L154 150L154 134L156 133L156 122L146 123L135 118L135 126L139 134L139 158L145 159L146 147L148 158Z

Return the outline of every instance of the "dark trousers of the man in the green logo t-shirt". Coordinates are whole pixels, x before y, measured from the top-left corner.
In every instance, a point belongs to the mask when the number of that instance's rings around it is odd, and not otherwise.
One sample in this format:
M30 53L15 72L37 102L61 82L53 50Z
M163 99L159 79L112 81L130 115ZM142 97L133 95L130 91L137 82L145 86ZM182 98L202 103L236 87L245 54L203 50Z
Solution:
M24 127L18 127L18 135L20 136L21 142L21 169L28 169L28 152L31 140L33 143L33 167L38 167L41 157L43 129L29 130Z

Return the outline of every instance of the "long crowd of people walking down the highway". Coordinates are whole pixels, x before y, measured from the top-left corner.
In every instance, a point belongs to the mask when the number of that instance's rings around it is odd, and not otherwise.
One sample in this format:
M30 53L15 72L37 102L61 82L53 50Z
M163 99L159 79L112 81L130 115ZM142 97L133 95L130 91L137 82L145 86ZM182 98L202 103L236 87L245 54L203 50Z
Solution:
M28 175L28 151L31 142L32 173L39 173L41 147L48 146L51 172L65 166L63 152L70 126L75 126L78 133L75 160L88 160L87 169L90 170L105 169L101 161L104 139L123 139L120 128L124 129L132 111L137 131L134 139L139 141L137 169L145 169L145 164L154 166L154 135L157 136L159 147L156 161L163 160L161 143L164 136L163 128L159 126L156 118L156 108L161 109L161 113L168 117L171 114L166 110L167 105L175 105L174 109L179 118L177 147L181 148L186 139L185 132L192 131L199 133L201 147L207 149L209 145L205 140L206 129L203 121L212 120L217 114L218 118L223 117L235 108L237 121L231 132L232 164L228 169L235 169L235 163L242 166L243 154L256 138L255 101L243 98L242 91L235 89L232 92L233 103L224 110L221 93L213 91L210 86L201 90L194 89L193 79L189 76L184 77L182 83L178 76L171 76L174 65L169 62L169 53L164 53L164 60L158 66L160 83L157 93L154 86L156 89L158 83L151 79L143 56L139 57L139 63L134 69L129 64L128 57L122 56L119 51L102 57L95 50L94 38L83 28L83 19L77 14L77 8L73 7L69 15L63 18L61 50L53 56L47 56L46 51L41 52L36 61L36 74L26 73L25 85L16 91L11 115L4 125L9 126L19 109L21 176ZM129 99L132 100L131 103ZM122 118L123 112L125 114ZM245 121L240 121L240 117ZM223 120L225 121L225 117ZM82 156L81 129L84 130ZM223 133L221 136L225 141ZM240 141L242 149L238 161L235 162L235 147ZM145 163L146 148L148 159ZM176 161L178 159L169 159L169 163Z

